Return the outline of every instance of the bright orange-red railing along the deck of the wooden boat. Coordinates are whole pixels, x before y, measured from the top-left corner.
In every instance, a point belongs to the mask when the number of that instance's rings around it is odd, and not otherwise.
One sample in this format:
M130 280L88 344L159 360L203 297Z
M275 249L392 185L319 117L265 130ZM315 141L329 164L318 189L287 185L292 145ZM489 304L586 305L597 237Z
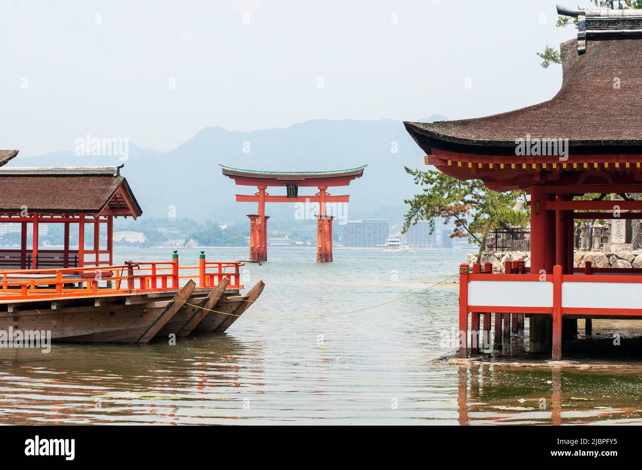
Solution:
M243 262L212 262L201 251L197 266L181 266L174 251L171 261L125 262L105 267L0 271L0 303L83 296L110 296L176 290L192 279L198 289L213 289L223 278L227 290L243 289L239 267Z

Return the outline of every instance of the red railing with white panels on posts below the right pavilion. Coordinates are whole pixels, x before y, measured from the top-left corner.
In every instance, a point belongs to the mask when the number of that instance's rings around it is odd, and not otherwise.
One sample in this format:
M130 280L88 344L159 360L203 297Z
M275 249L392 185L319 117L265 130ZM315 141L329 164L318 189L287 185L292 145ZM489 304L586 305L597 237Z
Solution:
M480 339L488 347L489 312L495 314L494 342L503 342L504 346L508 344L507 339L510 340L511 320L512 332L515 332L523 328L523 314L551 315L553 360L562 356L562 317L586 319L587 334L590 334L591 318L642 319L639 306L642 269L593 268L587 262L584 267L573 269L573 274L563 274L561 265L555 265L550 274L532 273L520 263L507 262L505 274L492 274L490 264L483 270L480 264L474 264L472 272L468 265L460 266L460 357L468 355L469 333L471 353L479 352ZM484 317L483 330L480 330L480 315Z

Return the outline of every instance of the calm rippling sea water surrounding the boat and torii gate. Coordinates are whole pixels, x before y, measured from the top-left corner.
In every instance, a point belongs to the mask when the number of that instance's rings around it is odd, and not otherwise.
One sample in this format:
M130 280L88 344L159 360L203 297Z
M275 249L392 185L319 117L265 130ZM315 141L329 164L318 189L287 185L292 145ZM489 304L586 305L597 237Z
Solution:
M119 249L115 259L159 260L169 249ZM180 250L196 264L198 250ZM462 251L270 249L247 264L260 302L223 335L177 346L54 344L51 353L0 349L2 424L570 424L641 423L639 374L428 364L447 348L458 289L438 286L364 312L305 321L253 315L327 315L376 305L454 274ZM208 249L238 260L247 249ZM543 403L543 408L542 408Z

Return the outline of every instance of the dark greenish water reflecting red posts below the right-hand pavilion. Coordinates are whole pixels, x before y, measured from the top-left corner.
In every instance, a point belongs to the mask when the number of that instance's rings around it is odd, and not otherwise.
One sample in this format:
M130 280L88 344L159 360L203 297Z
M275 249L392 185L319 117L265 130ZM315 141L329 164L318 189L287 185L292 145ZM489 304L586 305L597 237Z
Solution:
M457 377L462 426L642 422L639 373L473 364L458 367Z

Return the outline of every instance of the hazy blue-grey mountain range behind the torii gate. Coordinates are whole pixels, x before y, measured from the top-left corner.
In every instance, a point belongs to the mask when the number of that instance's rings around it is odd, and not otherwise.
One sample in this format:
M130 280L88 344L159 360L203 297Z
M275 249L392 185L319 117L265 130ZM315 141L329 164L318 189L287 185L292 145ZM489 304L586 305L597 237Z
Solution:
M426 121L446 119L431 116ZM128 160L116 156L76 156L58 151L15 158L8 166L79 166L124 163L123 175L143 207L144 215L167 217L175 206L178 217L221 223L247 221L256 205L236 203L234 194L254 194L252 187L235 186L218 164L277 171L334 170L367 164L363 178L333 194L350 194L348 217L381 217L401 221L404 198L416 192L404 165L423 167L423 152L403 123L392 119L328 121L315 119L287 128L251 132L207 127L169 152L130 144ZM307 191L307 192L306 192ZM301 194L315 191L300 189ZM273 189L272 194L284 194ZM268 205L268 215L293 217L288 204ZM397 217L393 220L392 217Z

